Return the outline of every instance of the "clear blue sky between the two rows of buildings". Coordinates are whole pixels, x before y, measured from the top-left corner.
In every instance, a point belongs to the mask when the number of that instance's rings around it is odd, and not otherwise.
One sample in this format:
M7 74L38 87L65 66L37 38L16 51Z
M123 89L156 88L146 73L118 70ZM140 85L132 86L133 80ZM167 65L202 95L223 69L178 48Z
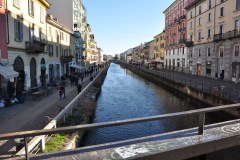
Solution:
M174 0L83 0L91 34L104 54L115 55L153 40Z

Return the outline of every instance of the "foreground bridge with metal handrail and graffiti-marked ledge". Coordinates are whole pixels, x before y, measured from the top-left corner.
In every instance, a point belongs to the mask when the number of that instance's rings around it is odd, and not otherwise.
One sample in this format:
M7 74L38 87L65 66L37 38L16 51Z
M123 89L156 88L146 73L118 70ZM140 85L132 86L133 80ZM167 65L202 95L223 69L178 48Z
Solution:
M240 144L240 119L205 125L205 115L210 112L233 110L240 104L231 104L204 109L196 109L165 115L157 115L113 122L77 125L45 130L7 133L0 135L0 140L15 138L24 139L25 159L82 159L82 160L113 160L113 159L161 159L176 160L201 156ZM60 151L57 153L30 155L28 139L34 136L45 136L56 133L73 133L96 128L159 121L164 119L188 118L198 116L199 123L195 128L169 133L152 135L137 139L113 142L108 144ZM19 159L19 157L17 157Z

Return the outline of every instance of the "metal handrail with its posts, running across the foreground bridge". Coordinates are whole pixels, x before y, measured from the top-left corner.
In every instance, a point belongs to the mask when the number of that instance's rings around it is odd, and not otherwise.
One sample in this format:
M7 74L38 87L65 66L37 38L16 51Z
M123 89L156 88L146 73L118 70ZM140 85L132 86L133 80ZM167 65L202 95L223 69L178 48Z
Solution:
M77 125L77 126L70 126L70 127L45 129L45 130L32 130L32 131L24 131L24 132L6 133L6 134L0 135L0 140L23 138L24 145L25 145L25 157L26 157L26 159L29 159L29 150L28 150L28 138L29 137L44 136L44 135L57 134L57 133L73 133L73 132L85 131L85 130L91 130L91 129L97 129L97 128L105 128L105 127L120 126L120 125L134 124L134 123L142 123L142 122L147 122L147 121L156 121L156 120L163 120L163 119L172 119L172 118L177 118L177 117L186 117L189 115L197 115L199 117L198 134L203 135L206 113L222 111L222 110L227 110L227 109L234 109L234 108L239 108L239 107L240 107L240 104L231 104L231 105L217 106L217 107L204 108L204 109L196 109L196 110L183 111L183 112L177 112L177 113L169 113L169 114L164 114L164 115L149 116L149 117L143 117L143 118L102 122L102 123L86 124L86 125Z

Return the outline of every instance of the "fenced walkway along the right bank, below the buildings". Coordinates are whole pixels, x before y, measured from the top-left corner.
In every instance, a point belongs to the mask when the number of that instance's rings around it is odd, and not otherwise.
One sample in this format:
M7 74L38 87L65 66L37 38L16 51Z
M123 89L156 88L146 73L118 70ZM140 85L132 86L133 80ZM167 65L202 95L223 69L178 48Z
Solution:
M240 102L240 85L232 81L224 81L220 79L208 78L198 75L191 75L183 72L177 72L172 70L150 70L143 66L130 65L138 70L143 70L156 74L160 77L169 79L171 81L181 83L185 86L198 89L221 97L223 99L230 100L232 102Z

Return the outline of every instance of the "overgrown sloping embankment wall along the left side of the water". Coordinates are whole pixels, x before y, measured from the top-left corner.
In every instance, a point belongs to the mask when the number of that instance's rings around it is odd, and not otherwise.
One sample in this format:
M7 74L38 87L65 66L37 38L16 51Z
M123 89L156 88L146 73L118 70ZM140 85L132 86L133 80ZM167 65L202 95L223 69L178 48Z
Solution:
M80 98L80 103L73 108L72 113L66 117L65 122L60 123L60 126L74 126L81 124L89 124L95 114L96 102L101 92L101 86L107 75L108 68L101 73L94 81L93 85L85 91L84 95ZM79 146L84 136L84 131L68 135L61 150L74 149Z

